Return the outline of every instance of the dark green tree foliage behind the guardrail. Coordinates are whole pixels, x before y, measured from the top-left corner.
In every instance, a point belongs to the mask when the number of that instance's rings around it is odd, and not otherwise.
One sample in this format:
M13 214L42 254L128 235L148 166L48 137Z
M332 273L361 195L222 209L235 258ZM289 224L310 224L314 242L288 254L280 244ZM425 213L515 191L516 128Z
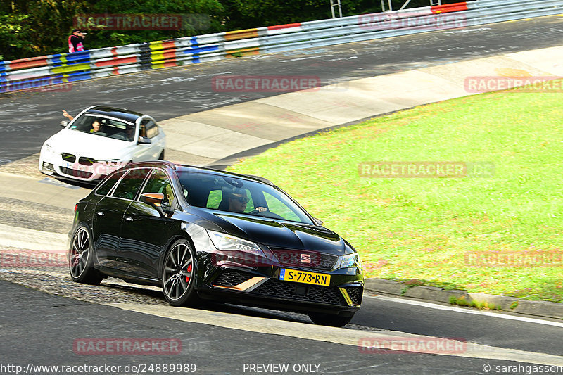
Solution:
M388 0L384 0L387 6ZM398 9L403 0L394 0ZM453 3L455 0L443 1ZM3 0L0 2L0 59L68 51L73 19L85 14L203 14L208 24L184 30L94 30L87 49L186 37L331 17L330 0ZM381 11L381 1L341 0L344 15ZM429 6L412 0L409 8ZM200 25L201 26L201 25Z

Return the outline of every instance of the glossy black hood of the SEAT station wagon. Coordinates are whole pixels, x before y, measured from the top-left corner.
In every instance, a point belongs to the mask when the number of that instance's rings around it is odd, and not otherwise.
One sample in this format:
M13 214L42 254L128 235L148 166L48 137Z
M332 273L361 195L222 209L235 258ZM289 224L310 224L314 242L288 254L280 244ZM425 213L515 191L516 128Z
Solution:
M341 236L324 227L293 222L278 222L262 217L215 213L216 224L230 234L241 231L244 238L270 248L315 250L343 255L346 244Z

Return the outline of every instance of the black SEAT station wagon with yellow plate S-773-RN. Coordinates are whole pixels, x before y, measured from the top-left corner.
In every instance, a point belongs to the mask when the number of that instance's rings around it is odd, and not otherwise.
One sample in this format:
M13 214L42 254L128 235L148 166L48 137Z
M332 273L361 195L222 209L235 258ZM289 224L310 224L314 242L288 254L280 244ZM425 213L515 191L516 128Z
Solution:
M131 163L75 206L72 280L107 276L201 300L306 312L343 326L360 308L358 253L262 177Z

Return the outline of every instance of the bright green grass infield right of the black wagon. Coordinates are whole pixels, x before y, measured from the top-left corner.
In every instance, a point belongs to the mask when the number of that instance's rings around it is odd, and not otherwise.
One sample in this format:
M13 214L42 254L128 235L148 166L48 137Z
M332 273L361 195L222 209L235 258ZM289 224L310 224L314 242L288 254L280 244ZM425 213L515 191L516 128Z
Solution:
M563 300L563 267L471 267L470 251L562 251L561 94L490 93L298 139L229 168L281 186L367 277ZM489 178L365 178L370 161L489 162Z

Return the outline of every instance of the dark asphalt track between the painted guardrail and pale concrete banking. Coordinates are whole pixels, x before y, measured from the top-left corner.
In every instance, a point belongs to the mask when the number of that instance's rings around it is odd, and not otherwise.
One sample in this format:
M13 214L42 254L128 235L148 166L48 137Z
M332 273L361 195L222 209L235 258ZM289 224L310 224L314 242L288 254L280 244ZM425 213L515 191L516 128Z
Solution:
M219 92L212 84L217 76L314 77L345 90L349 80L557 46L562 39L563 18L552 16L107 77L76 82L70 91L1 94L0 165L39 152L61 129L61 108L75 115L108 104L165 120L280 94Z

